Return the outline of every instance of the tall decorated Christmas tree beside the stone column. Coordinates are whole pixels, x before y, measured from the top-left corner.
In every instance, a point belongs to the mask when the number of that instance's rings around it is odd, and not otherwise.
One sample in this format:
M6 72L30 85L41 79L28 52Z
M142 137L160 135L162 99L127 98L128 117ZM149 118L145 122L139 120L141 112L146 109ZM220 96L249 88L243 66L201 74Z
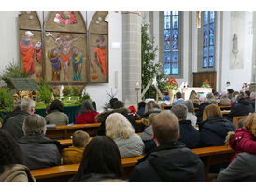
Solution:
M144 22L141 26L141 89L146 88L149 81L156 77L157 86L160 90L164 89L165 78L163 64L155 62L158 47L154 47L154 38L149 36L149 23ZM150 86L145 98L155 98L156 89Z

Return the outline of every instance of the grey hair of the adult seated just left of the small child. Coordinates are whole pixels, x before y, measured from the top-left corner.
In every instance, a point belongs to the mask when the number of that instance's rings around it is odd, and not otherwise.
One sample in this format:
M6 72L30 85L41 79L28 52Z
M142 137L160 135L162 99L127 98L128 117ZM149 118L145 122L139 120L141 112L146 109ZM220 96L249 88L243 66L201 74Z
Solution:
M26 117L23 122L22 130L24 135L31 134L46 134L46 121L44 117L39 116L38 114L30 115Z

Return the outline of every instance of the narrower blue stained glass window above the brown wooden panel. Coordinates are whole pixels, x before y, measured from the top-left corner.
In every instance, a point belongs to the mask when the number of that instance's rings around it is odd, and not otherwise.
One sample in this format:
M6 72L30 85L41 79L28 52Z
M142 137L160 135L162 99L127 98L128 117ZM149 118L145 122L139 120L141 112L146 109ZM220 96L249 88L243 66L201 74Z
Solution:
M214 66L214 11L204 12L203 24L203 67Z

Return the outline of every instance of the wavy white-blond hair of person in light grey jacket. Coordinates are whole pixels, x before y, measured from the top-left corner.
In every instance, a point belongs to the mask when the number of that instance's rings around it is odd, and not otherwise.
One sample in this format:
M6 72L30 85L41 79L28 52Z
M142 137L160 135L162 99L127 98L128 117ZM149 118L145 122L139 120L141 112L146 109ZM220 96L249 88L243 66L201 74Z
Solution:
M135 133L135 129L132 124L120 113L113 113L109 115L106 119L105 125L106 136L112 139L117 137L128 139L133 133Z

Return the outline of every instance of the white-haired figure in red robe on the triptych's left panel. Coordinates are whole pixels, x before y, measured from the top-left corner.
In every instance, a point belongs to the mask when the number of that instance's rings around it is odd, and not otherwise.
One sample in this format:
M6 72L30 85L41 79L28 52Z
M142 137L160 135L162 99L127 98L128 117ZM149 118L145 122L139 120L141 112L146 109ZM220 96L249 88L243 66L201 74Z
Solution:
M26 31L25 37L22 38L20 42L24 72L29 75L33 75L35 72L34 56L36 55L36 61L38 63L40 63L41 60L42 44L39 41L34 44L31 40L33 36L34 34L31 31Z

